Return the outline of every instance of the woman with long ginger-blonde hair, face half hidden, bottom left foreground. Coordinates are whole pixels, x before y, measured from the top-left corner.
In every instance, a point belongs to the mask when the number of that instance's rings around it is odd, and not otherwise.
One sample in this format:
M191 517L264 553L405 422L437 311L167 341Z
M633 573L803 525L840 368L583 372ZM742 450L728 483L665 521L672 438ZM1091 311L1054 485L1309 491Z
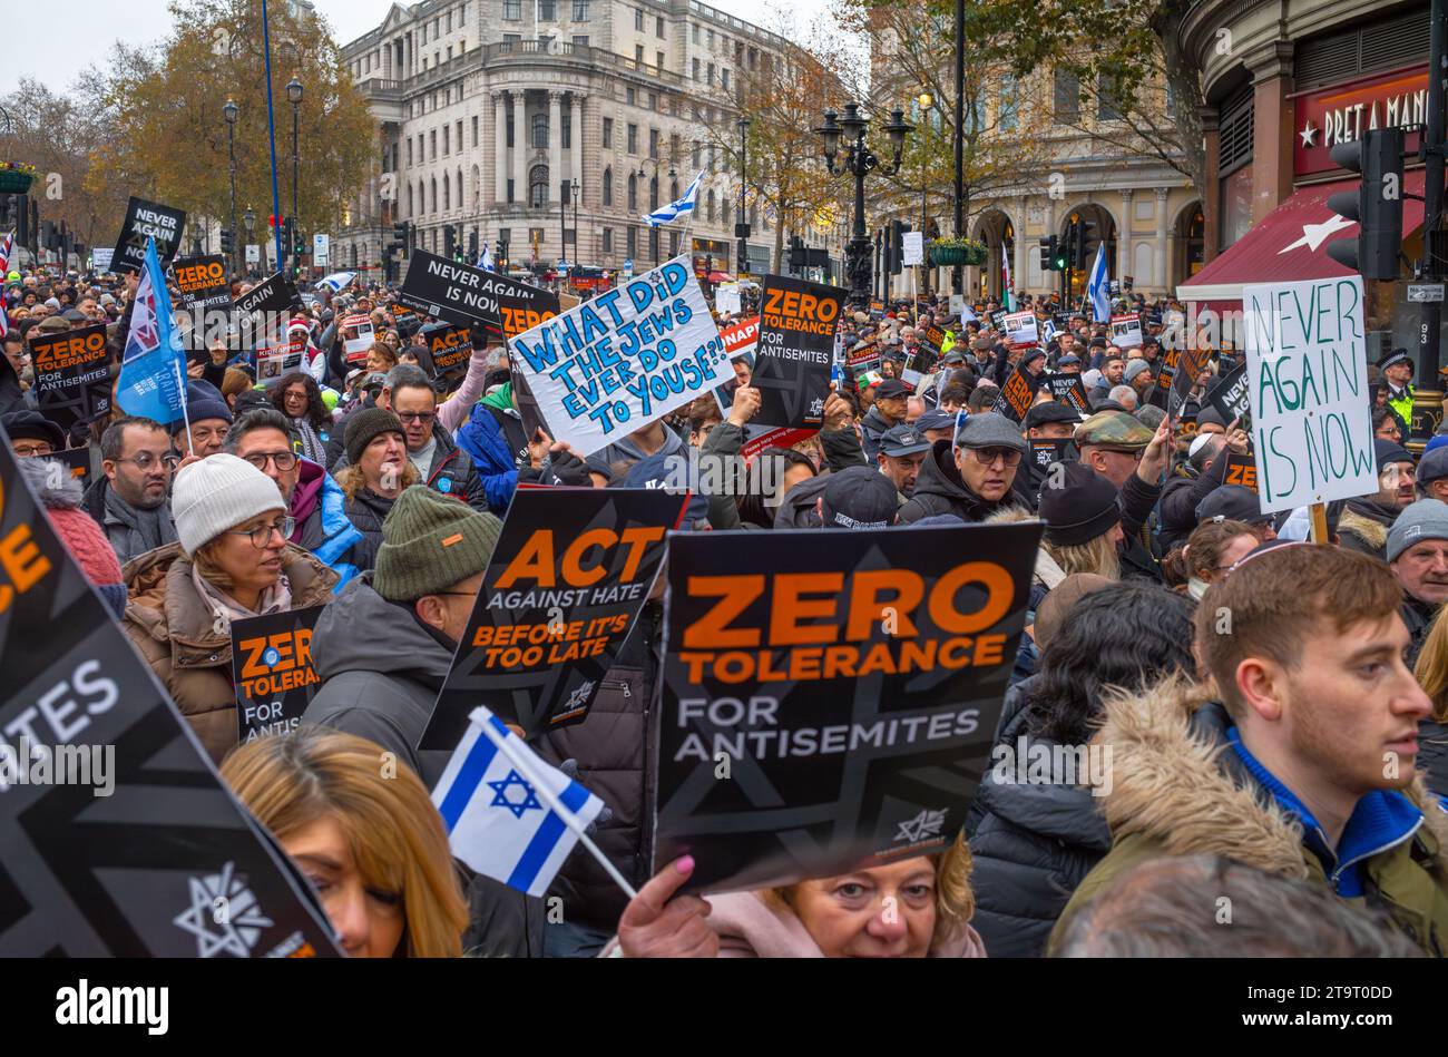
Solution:
M382 747L301 727L251 741L222 778L277 837L321 898L352 957L459 957L468 927L443 821Z

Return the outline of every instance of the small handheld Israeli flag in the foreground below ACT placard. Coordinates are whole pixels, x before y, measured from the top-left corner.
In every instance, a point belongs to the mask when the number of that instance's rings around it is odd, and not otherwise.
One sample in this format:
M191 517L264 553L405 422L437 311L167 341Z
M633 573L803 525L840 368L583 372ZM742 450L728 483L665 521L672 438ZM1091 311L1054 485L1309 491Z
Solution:
M453 854L478 873L542 896L578 835L604 802L543 763L487 708L472 709L468 733L433 791Z

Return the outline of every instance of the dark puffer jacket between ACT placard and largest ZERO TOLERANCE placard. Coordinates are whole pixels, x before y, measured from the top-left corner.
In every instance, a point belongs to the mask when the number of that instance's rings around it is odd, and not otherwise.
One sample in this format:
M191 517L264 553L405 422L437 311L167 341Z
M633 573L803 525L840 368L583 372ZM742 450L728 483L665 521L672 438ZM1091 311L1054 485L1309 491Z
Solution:
M649 718L662 631L662 604L644 602L637 627L604 676L588 720L544 734L536 743L544 760L576 773L579 785L608 805L613 814L598 822L594 841L634 888L649 880L653 856L644 814L654 782ZM562 898L565 921L607 935L617 931L628 904L582 846L563 860L549 895Z

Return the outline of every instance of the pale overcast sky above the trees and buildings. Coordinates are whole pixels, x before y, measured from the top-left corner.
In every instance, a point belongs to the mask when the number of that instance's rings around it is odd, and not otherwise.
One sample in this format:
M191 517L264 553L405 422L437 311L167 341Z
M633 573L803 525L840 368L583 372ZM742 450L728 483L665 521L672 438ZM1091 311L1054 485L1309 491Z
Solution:
M278 3L281 0L277 0ZM316 0L339 43L382 25L391 0ZM799 25L828 7L827 0L714 0L736 17L773 29L773 12L788 7ZM165 38L171 16L165 0L59 0L58 4L7 4L6 61L0 64L0 96L22 77L35 77L54 90L68 88L75 75L101 59L116 41L130 45Z

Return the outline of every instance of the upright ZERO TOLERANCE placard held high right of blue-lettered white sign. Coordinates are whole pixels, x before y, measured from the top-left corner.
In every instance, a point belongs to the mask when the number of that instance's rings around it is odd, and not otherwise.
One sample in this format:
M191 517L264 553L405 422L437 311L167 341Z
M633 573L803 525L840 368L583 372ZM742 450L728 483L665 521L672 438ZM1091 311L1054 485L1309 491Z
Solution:
M754 379L760 405L754 423L818 430L830 395L834 330L844 311L843 287L766 275L759 298Z

